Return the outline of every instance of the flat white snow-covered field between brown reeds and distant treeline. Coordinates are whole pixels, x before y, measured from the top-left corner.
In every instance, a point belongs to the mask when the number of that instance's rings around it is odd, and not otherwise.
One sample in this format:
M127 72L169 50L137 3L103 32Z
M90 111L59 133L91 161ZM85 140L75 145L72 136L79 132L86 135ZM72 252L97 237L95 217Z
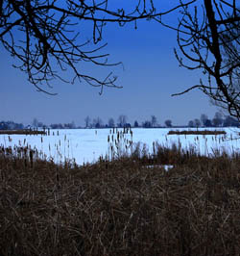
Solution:
M182 148L194 147L203 155L212 155L214 150L240 153L239 129L221 128L227 136L203 136L203 135L167 135L169 130L176 129L132 129L132 133L123 134L122 129L76 129L76 130L51 130L50 136L26 136L26 135L0 135L0 145L31 146L36 148L38 154L44 159L53 159L56 163L66 159L75 160L77 164L93 163L100 156L111 158L113 151L117 153L130 152L134 144L140 142L153 152L153 143L171 146L173 142L180 144ZM186 130L186 129L179 129ZM189 129L188 129L189 130ZM205 128L199 130L205 130ZM209 129L208 129L209 130ZM216 130L211 128L210 130ZM131 145L132 141L132 145Z

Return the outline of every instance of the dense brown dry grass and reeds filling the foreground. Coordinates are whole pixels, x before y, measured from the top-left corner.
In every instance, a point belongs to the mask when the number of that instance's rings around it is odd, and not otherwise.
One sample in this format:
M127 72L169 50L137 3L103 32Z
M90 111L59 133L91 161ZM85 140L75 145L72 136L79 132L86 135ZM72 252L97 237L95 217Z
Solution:
M239 255L239 155L143 161L56 166L1 148L0 255Z

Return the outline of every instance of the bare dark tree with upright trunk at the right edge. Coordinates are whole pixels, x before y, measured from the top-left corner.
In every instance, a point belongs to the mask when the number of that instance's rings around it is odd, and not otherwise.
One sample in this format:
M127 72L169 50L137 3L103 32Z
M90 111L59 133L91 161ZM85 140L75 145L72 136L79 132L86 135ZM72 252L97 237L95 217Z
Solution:
M235 0L196 0L182 6L180 13L176 57L180 66L201 69L207 82L201 79L199 85L174 95L200 89L240 119L240 8Z

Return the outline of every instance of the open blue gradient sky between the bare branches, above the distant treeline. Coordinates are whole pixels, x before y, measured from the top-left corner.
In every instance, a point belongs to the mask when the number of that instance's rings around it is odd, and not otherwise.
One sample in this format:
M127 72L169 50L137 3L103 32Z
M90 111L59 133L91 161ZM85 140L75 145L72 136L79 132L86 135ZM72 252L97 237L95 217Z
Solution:
M174 22L174 17L176 14L165 20ZM86 34L88 29L91 32L90 27L84 29ZM100 116L108 122L108 117L117 120L123 114L131 123L156 115L159 124L170 118L174 125L183 125L201 114L212 117L217 111L199 90L171 97L172 93L198 84L201 76L200 72L179 67L173 51L177 46L175 32L154 21L138 22L137 30L133 24L124 28L108 24L103 42L108 42L108 46L102 52L110 54L110 62L122 62L124 69L121 65L100 68L79 64L86 73L99 78L107 76L109 71L118 76L117 85L123 89L106 89L103 95L78 81L74 85L53 82L57 96L37 92L26 74L12 67L14 59L1 46L0 120L28 124L36 117L46 124L75 121L84 125L86 115Z

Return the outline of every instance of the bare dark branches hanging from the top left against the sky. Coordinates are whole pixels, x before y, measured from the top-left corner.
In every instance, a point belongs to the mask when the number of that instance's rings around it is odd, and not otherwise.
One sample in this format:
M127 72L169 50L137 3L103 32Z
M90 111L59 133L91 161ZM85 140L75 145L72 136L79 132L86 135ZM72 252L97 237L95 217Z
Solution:
M104 87L119 88L116 77L110 72L101 80L85 74L78 64L120 64L108 63L108 54L101 51L107 45L101 44L106 24L115 22L124 26L135 22L136 26L139 19L151 19L172 11L156 13L153 0L137 1L129 12L122 8L110 9L108 0L1 0L0 41L16 59L17 64L13 66L26 72L37 90L50 93L43 85L51 88L53 79L67 83L79 79L99 87L102 93ZM92 38L84 41L83 22L90 23L92 30ZM70 80L64 77L69 69L73 74Z

